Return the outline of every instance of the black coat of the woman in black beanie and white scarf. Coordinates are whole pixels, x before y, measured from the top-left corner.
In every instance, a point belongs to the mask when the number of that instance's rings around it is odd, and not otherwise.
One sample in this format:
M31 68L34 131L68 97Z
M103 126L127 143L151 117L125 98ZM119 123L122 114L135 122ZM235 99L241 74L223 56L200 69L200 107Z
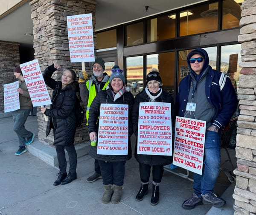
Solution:
M133 112L132 112L132 122L134 134L138 136L138 121L139 121L139 109L140 102L150 102L145 89L137 94L135 97ZM154 102L166 102L171 103L171 114L172 114L172 127L175 126L175 105L174 100L170 93L162 91L162 94ZM139 163L148 164L148 165L167 165L172 163L172 156L157 156L157 155L141 155L137 154L137 139L134 156Z

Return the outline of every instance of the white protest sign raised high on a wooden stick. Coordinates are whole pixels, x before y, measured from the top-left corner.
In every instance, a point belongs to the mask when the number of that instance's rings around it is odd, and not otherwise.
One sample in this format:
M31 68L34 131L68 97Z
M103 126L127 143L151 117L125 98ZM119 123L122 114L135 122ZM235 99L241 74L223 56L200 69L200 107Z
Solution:
M68 16L67 33L70 49L70 61L95 61L92 14Z

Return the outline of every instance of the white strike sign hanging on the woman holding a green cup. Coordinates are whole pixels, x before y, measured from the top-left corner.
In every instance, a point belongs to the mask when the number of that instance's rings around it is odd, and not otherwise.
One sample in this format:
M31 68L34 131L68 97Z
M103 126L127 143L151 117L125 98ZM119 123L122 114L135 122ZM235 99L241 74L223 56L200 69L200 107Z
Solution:
M97 153L128 155L128 105L101 104Z

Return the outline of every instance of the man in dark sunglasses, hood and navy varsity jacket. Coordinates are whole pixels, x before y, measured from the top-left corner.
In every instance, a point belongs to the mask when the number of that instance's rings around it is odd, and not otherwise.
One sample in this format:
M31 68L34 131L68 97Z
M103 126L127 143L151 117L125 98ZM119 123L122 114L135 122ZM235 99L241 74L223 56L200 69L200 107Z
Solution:
M220 131L236 110L236 92L229 77L209 65L204 49L192 50L187 64L190 72L180 81L176 96L177 116L206 121L206 136L202 175L194 173L194 193L182 207L193 209L200 204L221 207L226 201L213 193L221 161Z

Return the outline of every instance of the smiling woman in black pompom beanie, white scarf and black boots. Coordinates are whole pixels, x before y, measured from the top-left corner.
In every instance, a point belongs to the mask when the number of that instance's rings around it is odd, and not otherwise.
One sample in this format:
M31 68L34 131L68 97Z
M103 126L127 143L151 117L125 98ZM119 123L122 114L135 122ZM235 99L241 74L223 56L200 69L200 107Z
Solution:
M172 126L175 125L175 105L172 95L163 91L162 80L156 68L152 68L146 77L146 88L135 97L132 121L135 136L138 136L138 120L140 102L166 102L171 103ZM152 167L152 196L151 205L159 202L159 186L163 177L163 166L172 163L172 156L143 155L137 154L135 146L135 158L140 164L141 187L136 195L136 201L142 201L148 193L148 183Z

